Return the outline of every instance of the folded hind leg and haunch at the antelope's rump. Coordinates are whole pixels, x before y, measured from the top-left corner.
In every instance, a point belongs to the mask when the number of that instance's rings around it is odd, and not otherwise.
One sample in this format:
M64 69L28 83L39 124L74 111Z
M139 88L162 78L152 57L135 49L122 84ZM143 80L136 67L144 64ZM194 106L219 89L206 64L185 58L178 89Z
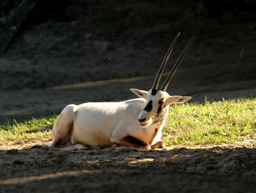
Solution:
M75 111L77 109L76 105L68 105L62 110L53 125L53 142L50 144L50 149L58 145L70 144L70 135L72 134Z

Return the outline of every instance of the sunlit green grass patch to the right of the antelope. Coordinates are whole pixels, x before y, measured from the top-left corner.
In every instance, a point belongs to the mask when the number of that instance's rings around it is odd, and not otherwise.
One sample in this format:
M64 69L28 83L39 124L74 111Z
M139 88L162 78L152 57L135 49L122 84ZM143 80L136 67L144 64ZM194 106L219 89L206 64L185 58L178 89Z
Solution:
M256 100L172 105L163 128L167 145L235 143L256 132Z

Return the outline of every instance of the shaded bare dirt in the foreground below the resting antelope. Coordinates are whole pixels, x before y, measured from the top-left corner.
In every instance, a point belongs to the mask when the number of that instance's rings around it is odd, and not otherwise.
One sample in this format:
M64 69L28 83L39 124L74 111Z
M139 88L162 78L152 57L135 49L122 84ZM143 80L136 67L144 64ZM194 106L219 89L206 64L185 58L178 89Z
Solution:
M1 151L1 192L254 192L250 147Z

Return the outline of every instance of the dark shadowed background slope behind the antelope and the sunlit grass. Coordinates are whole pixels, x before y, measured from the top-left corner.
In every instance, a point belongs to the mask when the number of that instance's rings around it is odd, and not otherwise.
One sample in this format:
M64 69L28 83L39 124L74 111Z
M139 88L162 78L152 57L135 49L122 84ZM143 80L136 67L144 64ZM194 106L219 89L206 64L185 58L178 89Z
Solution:
M196 38L169 94L200 102L253 96L255 10L255 1L238 0L0 1L0 110L134 97L129 88L151 88L178 31L165 72ZM98 80L110 82L95 87Z

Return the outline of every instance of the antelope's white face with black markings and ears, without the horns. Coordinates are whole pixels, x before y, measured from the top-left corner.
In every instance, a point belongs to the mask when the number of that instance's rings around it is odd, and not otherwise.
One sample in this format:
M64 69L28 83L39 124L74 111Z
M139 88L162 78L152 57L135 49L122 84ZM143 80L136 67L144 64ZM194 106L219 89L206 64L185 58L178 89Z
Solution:
M146 99L146 105L138 117L138 123L143 128L164 121L170 104L183 103L192 98L191 96L170 96L165 91L157 91L157 94L152 95L151 90L141 91L136 88L130 90L140 98Z

